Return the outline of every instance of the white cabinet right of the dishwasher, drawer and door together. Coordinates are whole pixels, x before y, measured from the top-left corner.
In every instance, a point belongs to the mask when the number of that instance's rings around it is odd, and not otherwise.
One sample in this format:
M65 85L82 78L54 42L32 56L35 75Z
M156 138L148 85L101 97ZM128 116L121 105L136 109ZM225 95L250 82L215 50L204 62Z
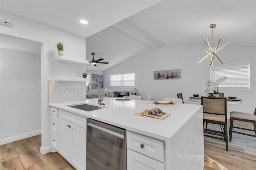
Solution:
M126 132L127 170L165 170L164 141Z

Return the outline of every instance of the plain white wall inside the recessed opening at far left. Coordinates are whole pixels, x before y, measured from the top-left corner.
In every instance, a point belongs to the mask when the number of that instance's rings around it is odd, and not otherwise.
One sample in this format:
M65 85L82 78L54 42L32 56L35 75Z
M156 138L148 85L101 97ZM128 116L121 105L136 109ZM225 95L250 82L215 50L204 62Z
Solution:
M40 60L0 48L0 145L41 133Z

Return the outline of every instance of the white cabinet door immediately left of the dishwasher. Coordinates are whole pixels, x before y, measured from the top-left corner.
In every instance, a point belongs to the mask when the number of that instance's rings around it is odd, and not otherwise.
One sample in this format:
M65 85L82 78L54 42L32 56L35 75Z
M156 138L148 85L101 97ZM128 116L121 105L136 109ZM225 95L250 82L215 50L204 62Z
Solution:
M86 129L72 125L72 160L77 170L86 170Z

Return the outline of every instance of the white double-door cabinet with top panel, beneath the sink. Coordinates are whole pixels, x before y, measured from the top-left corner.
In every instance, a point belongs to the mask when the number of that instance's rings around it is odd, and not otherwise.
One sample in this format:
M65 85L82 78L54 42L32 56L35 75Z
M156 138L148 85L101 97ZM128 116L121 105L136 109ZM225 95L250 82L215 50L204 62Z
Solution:
M78 125L75 125L77 122ZM59 110L58 152L77 170L86 170L86 118Z

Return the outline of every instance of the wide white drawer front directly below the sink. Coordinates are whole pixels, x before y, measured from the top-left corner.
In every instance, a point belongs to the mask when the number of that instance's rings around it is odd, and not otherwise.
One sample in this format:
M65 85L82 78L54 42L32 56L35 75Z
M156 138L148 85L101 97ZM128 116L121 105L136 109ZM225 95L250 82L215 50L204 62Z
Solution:
M64 110L59 110L59 117L86 129L86 117L82 117Z

